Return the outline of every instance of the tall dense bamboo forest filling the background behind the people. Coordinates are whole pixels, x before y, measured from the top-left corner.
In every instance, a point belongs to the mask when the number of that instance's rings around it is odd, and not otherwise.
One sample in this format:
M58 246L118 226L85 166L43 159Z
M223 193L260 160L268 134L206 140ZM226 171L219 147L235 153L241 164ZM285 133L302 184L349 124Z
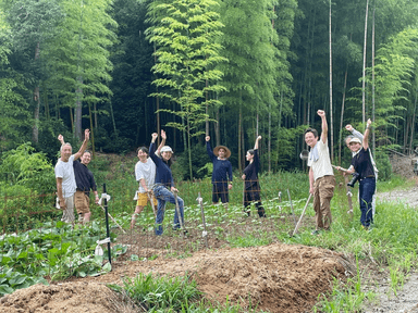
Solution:
M242 170L260 134L263 171L297 168L324 109L343 165L344 125L364 117L373 149L410 152L416 2L0 0L0 150L32 141L52 158L59 133L77 141L88 127L95 150L125 152L165 128L189 178L194 135Z

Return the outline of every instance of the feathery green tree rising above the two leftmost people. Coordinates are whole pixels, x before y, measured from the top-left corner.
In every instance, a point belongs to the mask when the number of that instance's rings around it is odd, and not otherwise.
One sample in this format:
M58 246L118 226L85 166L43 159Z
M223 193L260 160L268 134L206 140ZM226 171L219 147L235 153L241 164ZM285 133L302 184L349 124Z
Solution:
M88 104L90 112L90 105L109 103L112 93L107 85L113 67L109 49L116 40L116 23L109 15L111 3L111 0L62 0L65 18L54 37L54 49L48 53L53 61L49 70L56 73L48 84L62 98L64 108L74 108L71 120L78 140L82 138L83 103Z

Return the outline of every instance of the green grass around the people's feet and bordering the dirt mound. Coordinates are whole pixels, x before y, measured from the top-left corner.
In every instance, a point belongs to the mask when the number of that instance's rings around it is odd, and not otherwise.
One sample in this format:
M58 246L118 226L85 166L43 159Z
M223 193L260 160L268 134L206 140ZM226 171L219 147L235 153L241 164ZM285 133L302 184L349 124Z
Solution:
M101 183L107 183L107 192L112 196L112 199L109 202L110 213L116 217L118 223L126 229L130 226L131 215L135 208L135 202L133 201L134 192L137 189L137 183L133 176L135 161L136 160L133 160L132 164L116 166L113 170L113 173L106 172L108 168L106 164L103 162L98 162L96 167L98 173L95 173L96 177L99 178ZM336 178L339 181L342 181L340 176ZM187 223L193 223L194 225L198 225L197 228L199 230L202 230L200 208L196 202L197 195L200 192L205 202L207 226L210 229L211 235L217 236L220 240L228 241L231 247L266 246L274 241L280 241L290 245L300 243L305 246L322 247L336 252L352 254L356 260L360 261L361 264L372 262L379 267L379 271L385 273L386 277L390 278L391 290L394 295L402 288L408 273L413 268L417 268L418 212L416 209L399 203L378 204L374 225L370 231L365 231L360 227L360 211L356 200L358 185L353 190L353 216L347 214L348 208L345 187L341 186L335 188L335 195L331 202L333 216L332 230L314 237L310 235L310 231L312 230L311 227L304 226L299 229L297 236L290 237L290 233L294 228L294 221L292 217L287 189L292 197L294 212L296 216L299 217L308 197L309 183L307 174L300 172L280 172L272 175L262 175L260 177L260 185L262 190L261 200L268 214L268 220L272 223L280 223L280 227L275 227L275 229L270 229L269 231L263 230L262 227L258 227L260 220L258 216L254 215L255 210L253 210L253 215L249 217L250 220L244 217L245 214L243 213L242 205L243 186L242 180L238 177L235 177L234 179L234 187L231 192L231 202L228 212L225 212L222 205L211 204L210 179L193 183L179 183L177 188L180 190L180 196L183 198L186 205L186 226ZM404 189L413 187L414 185L415 181L406 181L403 177L394 175L390 181L378 181L378 191L385 192L396 188ZM279 192L282 193L281 201L278 197ZM170 205L172 204L168 205L164 218L167 236L172 236L169 224L172 221L174 210L172 210L173 206ZM93 220L102 220L104 213L101 209L98 209L97 206L93 206ZM311 220L312 216L314 210L310 203L304 221ZM3 215L3 217L7 218L8 216ZM237 227L233 227L234 225L244 225L245 223L249 223L254 226L250 231L242 233L238 229L235 229ZM142 213L140 218L137 218L137 224L148 230L152 230L153 214L149 209L146 209L145 212ZM73 238L73 240L76 239ZM171 256L187 258L192 252L192 250L187 250L184 251L184 253L177 253ZM16 255L17 262L20 254L17 253ZM81 256L83 256L83 254ZM4 260L9 259L3 258L3 263L5 262ZM36 262L33 263L36 264ZM58 267L65 270L64 264L57 264L57 268ZM314 308L314 311L356 312L361 310L365 302L374 301L376 295L371 291L364 290L364 285L369 278L361 272L360 266L357 266L357 275L348 279L346 284L334 281L333 290L330 295L323 295L325 297L318 299L318 304ZM62 273L58 271L57 275L63 275L63 277L65 277L67 271L65 270ZM17 278L8 276L9 280ZM140 292L136 291L138 288L145 288L144 286L136 286L144 285L144 279L147 281L146 284L149 285L147 287L148 289L142 290ZM152 308L155 308L153 312L170 312L170 309L168 309L169 303L172 303L173 301L180 303L180 306L176 309L179 312L248 312L248 309L245 309L247 310L245 311L239 304L232 304L230 302L210 303L197 292L195 286L190 281L190 284L186 284L190 286L184 286L184 280L181 278L179 279L180 280L176 281L168 280L169 283L167 283L167 278L143 276L134 278L133 280L126 280L123 288L126 289L125 292L127 293L133 292L136 295L136 292L139 292L143 295L142 297L145 297L138 298L137 301L144 302L144 299L147 299L146 301L149 303L151 300L155 301L155 304L152 304ZM174 284L179 289L185 288L185 290L180 290L180 293L172 291L164 293L164 296L161 295L161 297L158 296L161 293L158 290L165 288L163 286L167 284ZM368 285L370 284L368 283ZM189 289L188 287L193 288ZM149 293L153 293L153 298ZM160 300L162 301L161 303L158 302ZM257 311L256 305L250 308L250 312L253 311Z

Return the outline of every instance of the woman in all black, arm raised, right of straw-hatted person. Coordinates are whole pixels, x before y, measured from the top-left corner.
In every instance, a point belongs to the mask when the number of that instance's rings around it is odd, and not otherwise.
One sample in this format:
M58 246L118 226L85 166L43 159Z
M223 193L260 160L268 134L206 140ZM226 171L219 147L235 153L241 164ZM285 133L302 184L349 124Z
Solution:
M256 202L258 215L266 217L265 209L260 201L260 184L258 181L258 172L260 171L260 161L258 159L258 141L261 140L261 136L258 136L254 149L247 151L246 159L249 164L244 170L243 179L245 180L244 190L244 210L246 210L248 216L250 215L250 204Z

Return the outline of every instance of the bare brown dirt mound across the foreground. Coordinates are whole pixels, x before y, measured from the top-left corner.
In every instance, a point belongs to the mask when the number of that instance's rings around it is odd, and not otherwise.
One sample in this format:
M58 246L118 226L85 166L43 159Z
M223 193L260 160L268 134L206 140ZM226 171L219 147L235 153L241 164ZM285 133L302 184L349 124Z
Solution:
M259 310L270 312L307 312L318 295L331 290L334 277L345 279L354 271L344 255L315 247L272 243L208 250L181 260L119 261L111 273L100 277L16 290L1 299L0 312L130 312L115 309L123 301L103 283L120 284L123 277L138 273L188 275L206 298L221 303L229 297L244 308L257 303Z

